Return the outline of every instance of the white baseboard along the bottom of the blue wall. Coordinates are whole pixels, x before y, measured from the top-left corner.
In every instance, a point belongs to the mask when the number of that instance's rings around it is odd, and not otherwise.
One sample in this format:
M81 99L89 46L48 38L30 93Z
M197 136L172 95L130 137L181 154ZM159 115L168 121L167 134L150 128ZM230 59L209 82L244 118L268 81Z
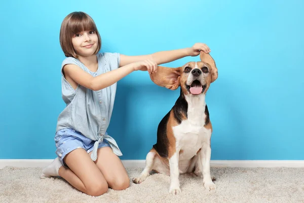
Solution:
M0 159L5 166L45 167L53 159ZM145 160L122 160L125 167L144 167ZM304 167L304 160L211 160L211 167Z

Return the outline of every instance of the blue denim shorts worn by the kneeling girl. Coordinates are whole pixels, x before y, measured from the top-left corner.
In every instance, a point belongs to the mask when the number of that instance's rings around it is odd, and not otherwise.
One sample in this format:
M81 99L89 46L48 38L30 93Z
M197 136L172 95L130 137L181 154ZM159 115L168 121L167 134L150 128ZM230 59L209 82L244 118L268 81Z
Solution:
M61 130L58 130L55 135L55 144L56 144L56 154L65 167L68 167L64 161L63 158L70 153L71 151L79 148L85 149L88 153L93 151L94 147L94 140L91 140L87 137L85 137L81 132L78 132L71 128L64 128ZM103 140L99 146L99 148L102 147L110 147L107 140Z

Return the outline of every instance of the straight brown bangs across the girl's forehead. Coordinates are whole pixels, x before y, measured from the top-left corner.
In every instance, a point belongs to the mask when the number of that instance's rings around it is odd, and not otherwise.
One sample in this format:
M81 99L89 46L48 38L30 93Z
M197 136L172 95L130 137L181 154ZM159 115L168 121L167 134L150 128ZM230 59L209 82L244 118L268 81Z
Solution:
M70 35L75 35L82 31L96 31L96 25L91 17L84 13L76 13L71 16L70 23L67 28Z

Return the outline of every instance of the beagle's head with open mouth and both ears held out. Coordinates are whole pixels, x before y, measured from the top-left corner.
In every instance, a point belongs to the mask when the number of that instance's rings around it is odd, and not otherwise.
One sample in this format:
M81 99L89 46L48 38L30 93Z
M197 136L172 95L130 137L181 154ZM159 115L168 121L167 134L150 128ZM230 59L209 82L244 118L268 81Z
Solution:
M188 62L176 68L158 66L157 73L151 74L150 78L168 89L175 90L180 86L185 95L205 94L217 79L217 67L210 54L201 51L200 58L199 62Z

